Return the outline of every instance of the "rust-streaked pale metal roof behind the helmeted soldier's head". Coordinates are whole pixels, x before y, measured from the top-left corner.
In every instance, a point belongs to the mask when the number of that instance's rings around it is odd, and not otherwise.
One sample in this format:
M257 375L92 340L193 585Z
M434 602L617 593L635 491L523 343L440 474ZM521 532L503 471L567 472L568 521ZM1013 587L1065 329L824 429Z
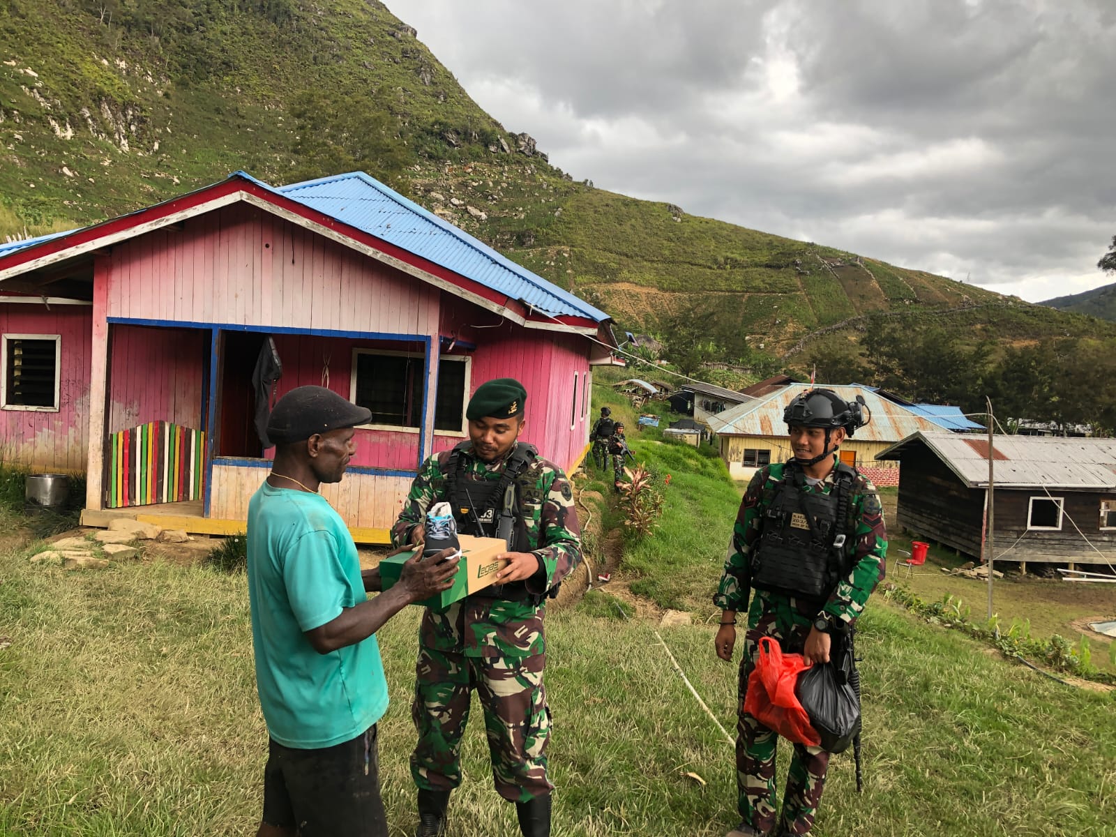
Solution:
M920 430L935 431L939 426L930 419L915 415L906 407L882 398L868 387L830 386L818 384L818 388L833 389L845 401L857 395L872 413L872 422L856 431L854 439L865 442L897 442ZM778 389L759 402L740 404L709 419L713 432L723 436L785 436L787 425L782 423L782 411L799 393L810 387L788 386Z

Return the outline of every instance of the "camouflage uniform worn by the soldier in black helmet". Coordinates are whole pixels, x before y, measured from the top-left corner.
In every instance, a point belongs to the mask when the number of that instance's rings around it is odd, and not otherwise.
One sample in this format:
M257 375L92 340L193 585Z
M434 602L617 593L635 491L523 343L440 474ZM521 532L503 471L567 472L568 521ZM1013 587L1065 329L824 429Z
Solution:
M829 493L835 485L835 474L836 470L819 485L807 485L804 490ZM724 574L713 597L713 603L722 610L740 613L748 607L751 555L760 538L762 513L772 501L782 475L783 465L768 465L758 471L748 485L729 542ZM748 676L756 667L760 637L772 636L785 652L801 653L819 609L847 625L853 625L863 613L868 596L884 577L887 533L876 488L863 475L857 475L849 506L856 523L852 539L854 565L825 606L819 608L817 602L756 590L748 610L738 686L737 787L741 818L763 834L771 831L776 825L775 756L778 734L743 711ZM829 753L821 748L795 744L782 802L781 822L786 834L809 834L821 801L828 764Z

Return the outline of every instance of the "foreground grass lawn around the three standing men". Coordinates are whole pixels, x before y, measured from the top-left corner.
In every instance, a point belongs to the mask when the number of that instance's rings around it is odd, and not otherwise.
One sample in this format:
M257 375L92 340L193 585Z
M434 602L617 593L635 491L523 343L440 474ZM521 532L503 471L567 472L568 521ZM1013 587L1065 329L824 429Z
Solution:
M722 835L731 751L654 626L590 605L552 613L556 835ZM392 706L383 785L414 825L406 758L417 612L381 632ZM242 576L170 564L98 573L0 556L0 833L249 835L266 732ZM734 671L712 632L664 638L732 729ZM0 643L2 644L2 643ZM865 795L835 760L817 834L1116 835L1108 694L1069 689L877 599L863 619ZM479 712L450 835L514 834L491 789ZM782 763L786 763L783 759ZM692 771L708 785L682 776Z

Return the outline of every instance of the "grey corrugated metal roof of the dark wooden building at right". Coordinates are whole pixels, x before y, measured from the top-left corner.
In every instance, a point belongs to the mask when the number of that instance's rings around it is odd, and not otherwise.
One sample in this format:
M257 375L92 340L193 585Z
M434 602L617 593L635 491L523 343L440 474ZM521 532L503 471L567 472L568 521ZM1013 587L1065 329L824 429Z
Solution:
M903 451L925 444L970 488L988 488L988 442L942 431L914 433L876 459L903 459ZM997 488L1049 488L1104 491L1116 488L1116 440L995 435Z

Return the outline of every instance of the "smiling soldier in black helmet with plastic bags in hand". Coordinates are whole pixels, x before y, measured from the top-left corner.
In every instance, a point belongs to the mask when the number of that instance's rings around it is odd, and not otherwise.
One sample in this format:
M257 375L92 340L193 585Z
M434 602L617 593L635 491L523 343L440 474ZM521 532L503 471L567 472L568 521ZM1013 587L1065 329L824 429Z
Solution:
M724 574L713 603L722 608L716 654L732 660L737 614L748 607L740 661L737 786L741 822L728 837L809 834L830 753L795 744L776 829L778 735L743 711L760 637L815 663L849 632L884 576L887 533L875 487L841 463L837 448L870 420L863 400L809 389L783 411L793 459L757 471L740 503Z

